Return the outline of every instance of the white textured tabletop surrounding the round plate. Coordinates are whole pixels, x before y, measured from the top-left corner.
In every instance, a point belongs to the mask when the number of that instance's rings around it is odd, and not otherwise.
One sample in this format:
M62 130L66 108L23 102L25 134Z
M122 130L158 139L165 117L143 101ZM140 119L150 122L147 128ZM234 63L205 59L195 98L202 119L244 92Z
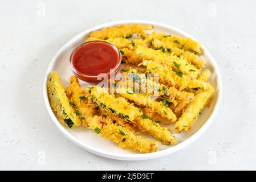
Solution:
M255 9L254 0L0 0L0 169L256 169ZM188 32L221 69L216 119L196 142L163 158L124 162L84 151L44 106L43 77L58 49L87 28L124 19Z

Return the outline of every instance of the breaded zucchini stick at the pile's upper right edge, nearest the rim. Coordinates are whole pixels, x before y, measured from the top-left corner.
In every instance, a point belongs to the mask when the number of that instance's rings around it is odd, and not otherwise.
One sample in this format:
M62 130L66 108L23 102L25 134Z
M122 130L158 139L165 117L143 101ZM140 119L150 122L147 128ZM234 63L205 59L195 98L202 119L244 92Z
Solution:
M155 33L147 36L148 40L158 39L163 43L173 42L175 46L185 51L193 53L201 53L201 45L199 42L192 40L191 38L181 38L180 36L166 35L165 33Z

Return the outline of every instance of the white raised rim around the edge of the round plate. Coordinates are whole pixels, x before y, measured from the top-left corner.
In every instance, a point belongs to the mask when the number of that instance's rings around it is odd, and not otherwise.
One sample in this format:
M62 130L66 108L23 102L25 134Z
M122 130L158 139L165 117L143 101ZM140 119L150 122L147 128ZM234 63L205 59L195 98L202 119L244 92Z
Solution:
M91 147L88 144L84 144L84 143L80 142L79 139L74 137L72 134L68 133L68 131L66 129L64 129L64 127L59 123L58 119L55 117L54 111L52 111L51 106L50 106L50 102L48 100L48 94L47 94L48 73L50 73L50 71L51 71L51 69L52 69L52 67L55 63L56 58L60 55L60 53L66 47L68 47L69 44L71 44L72 42L75 42L75 39L78 38L79 36L88 34L88 32L91 32L91 31L94 31L94 30L99 30L103 27L115 26L116 24L128 24L128 23L153 24L153 25L156 25L156 26L159 26L159 27L167 28L167 29L172 30L172 31L176 31L176 32L178 32L178 34L181 34L184 37L190 37L193 40L197 41L197 39L194 39L193 36L190 36L186 32L179 30L178 28L169 26L168 24L153 22L153 21L148 21L148 20L136 20L136 19L135 20L119 20L119 21L115 21L115 22L108 22L108 23L99 24L95 27L88 28L87 30L85 30L83 32L80 32L78 35L75 35L73 38L68 40L68 42L66 42L59 49L59 51L55 53L54 57L52 57L52 59L50 61L50 64L48 64L46 73L44 75L44 80L43 80L44 104L46 105L47 111L50 114L50 117L51 117L52 121L55 123L56 127L58 127L58 129L63 133L63 135L65 137L67 137L69 140L71 140L73 143L75 143L76 145L78 145L79 147L83 148L86 151L89 151L89 152L91 152L93 154L96 154L96 155L99 155L99 156L103 156L105 158L117 159L117 160L148 160L148 159L160 158L161 156L173 154L174 152L177 152L178 150L181 150L182 148L185 148L186 146L189 146L189 144L191 144L197 138L199 138L200 135L202 135L205 132L205 130L208 129L210 124L213 122L213 119L214 119L214 117L216 117L217 111L220 107L221 100L222 100L222 78L221 78L220 69L218 68L216 60L210 54L208 49L206 49L204 47L204 45L201 45L201 47L204 50L205 55L207 55L209 57L209 59L211 60L213 68L214 68L214 72L216 72L216 76L217 76L218 95L216 96L216 105L214 106L212 114L205 121L204 125L202 125L202 127L200 129L198 129L196 131L196 133L194 133L191 137L186 139L184 142L178 143L176 146L166 148L166 149L161 150L161 151L148 153L148 154L113 154L112 152L99 150L97 148Z

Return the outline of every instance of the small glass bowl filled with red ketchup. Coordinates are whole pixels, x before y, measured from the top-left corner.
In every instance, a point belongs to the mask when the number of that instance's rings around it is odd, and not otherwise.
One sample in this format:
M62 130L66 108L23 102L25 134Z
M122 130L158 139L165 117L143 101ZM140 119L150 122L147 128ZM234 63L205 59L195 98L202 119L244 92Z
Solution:
M70 57L70 63L76 77L87 82L100 82L101 80L97 80L100 73L106 73L109 77L111 73L119 71L121 54L110 43L86 42L75 49Z

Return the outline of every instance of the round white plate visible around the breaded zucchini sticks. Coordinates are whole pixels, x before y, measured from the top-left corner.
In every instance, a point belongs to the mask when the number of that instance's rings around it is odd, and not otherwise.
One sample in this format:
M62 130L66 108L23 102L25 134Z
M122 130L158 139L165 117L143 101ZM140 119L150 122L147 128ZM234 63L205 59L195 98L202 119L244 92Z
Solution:
M43 82L43 96L44 101L50 114L52 121L54 121L55 125L58 127L60 131L72 142L77 144L78 146L84 148L87 151L90 151L96 155L104 156L106 158L112 159L119 159L119 160L146 160L146 159L153 159L159 158L164 155L172 154L188 144L192 143L196 140L204 131L209 127L210 123L212 123L214 116L217 113L218 107L220 106L221 96L222 96L222 81L220 71L214 61L212 55L202 46L203 55L202 57L206 60L206 68L210 69L212 72L211 77L209 78L210 84L214 86L215 89L215 96L214 100L212 101L210 107L206 107L204 110L201 111L201 115L198 120L194 123L192 130L187 133L181 133L177 135L177 144L176 146L164 146L160 145L160 150L157 152L149 153L149 154L139 154L136 152L132 152L130 150L122 150L117 146L117 144L111 142L111 140L102 139L100 135L94 134L92 130L84 129L83 127L78 127L74 129L68 129L61 125L58 119L55 117L54 112L51 109L51 106L48 101L47 96L47 76L52 71L57 71L62 78L62 83L64 86L68 86L68 78L72 75L70 65L69 65L69 58L70 53L72 50L77 47L79 44L84 42L90 32L95 30L100 30L103 27L111 27L115 26L116 24L125 24L125 23L142 23L142 24L152 24L156 31L165 32L166 34L172 35L179 35L182 37L190 37L192 36L177 30L177 28L173 28L171 26L156 23L156 22L148 22L144 20L125 20L119 22L111 22L101 24L100 26L96 26L94 28L90 28L79 35L76 35L70 41L68 41L60 50L56 53L56 55L51 60L50 65L46 71L46 75L44 77ZM192 38L194 39L194 38ZM196 40L196 39L194 39ZM82 81L80 81L82 82ZM86 83L82 82L84 86ZM173 129L172 126L168 126L170 129Z

